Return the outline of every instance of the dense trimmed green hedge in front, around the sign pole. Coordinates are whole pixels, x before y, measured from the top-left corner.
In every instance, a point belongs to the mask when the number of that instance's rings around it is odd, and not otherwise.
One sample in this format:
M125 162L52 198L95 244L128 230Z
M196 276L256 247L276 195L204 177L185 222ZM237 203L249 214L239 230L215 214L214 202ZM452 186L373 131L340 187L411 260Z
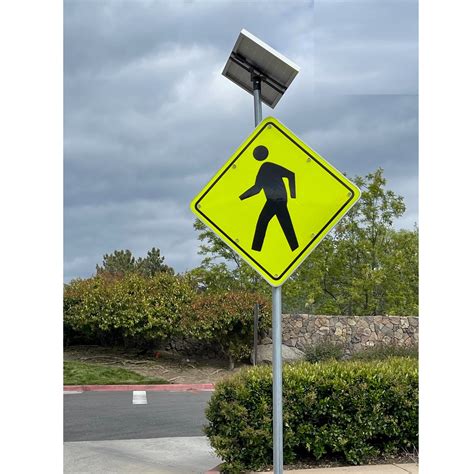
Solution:
M272 372L258 366L221 381L206 410L226 472L272 464ZM418 444L413 359L288 364L283 370L284 461L323 456L360 464Z

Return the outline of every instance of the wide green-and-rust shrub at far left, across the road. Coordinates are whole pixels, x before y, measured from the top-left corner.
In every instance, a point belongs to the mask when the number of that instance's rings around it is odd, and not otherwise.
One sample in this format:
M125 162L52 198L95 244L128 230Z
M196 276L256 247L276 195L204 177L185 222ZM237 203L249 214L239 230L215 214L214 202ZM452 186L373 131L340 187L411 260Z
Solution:
M147 346L175 335L193 292L168 273L74 280L64 289L64 326L87 342Z

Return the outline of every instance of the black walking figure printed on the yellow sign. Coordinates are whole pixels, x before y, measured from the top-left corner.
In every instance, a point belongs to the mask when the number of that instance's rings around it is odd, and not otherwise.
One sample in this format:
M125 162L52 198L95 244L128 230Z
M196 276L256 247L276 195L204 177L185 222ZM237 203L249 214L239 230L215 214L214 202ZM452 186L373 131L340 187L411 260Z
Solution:
M253 157L258 161L265 160L267 156L268 148L263 145L257 146L253 150ZM262 250L268 224L274 216L277 217L291 250L296 250L298 248L298 240L296 239L290 213L288 212L288 198L283 178L288 179L290 185L290 196L295 199L295 173L287 170L283 166L270 162L262 164L258 171L257 178L255 179L255 184L239 196L241 200L247 199L255 196L263 189L265 197L267 198L267 202L263 206L260 216L258 217L252 250L258 252Z

